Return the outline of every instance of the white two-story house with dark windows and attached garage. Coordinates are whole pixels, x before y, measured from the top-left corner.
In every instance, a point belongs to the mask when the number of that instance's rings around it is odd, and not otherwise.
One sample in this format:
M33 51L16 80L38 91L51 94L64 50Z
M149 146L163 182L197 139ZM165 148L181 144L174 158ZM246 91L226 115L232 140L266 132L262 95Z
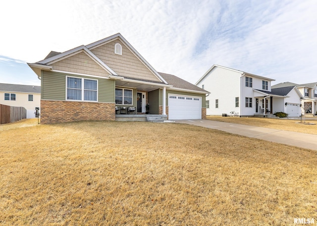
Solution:
M207 115L270 115L286 112L288 103L300 106L302 96L296 87L275 90L271 81L275 80L213 65L195 85L211 92L206 96ZM292 116L300 112L293 109Z

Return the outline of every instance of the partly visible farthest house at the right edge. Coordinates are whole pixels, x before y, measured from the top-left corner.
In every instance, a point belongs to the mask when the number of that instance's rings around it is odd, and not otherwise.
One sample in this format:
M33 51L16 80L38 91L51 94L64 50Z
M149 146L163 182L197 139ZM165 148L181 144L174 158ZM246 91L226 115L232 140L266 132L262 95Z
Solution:
M295 84L290 82L279 83L272 88L296 86L303 96L302 112L317 115L317 83Z

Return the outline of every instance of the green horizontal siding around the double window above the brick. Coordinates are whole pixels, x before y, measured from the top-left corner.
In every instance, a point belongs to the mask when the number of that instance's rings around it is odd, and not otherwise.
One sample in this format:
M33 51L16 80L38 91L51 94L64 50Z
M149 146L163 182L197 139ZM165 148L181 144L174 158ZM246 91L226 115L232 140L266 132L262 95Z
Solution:
M66 76L98 80L98 102L114 102L115 81L89 76L78 76L58 72L43 71L42 73L42 99L65 100Z

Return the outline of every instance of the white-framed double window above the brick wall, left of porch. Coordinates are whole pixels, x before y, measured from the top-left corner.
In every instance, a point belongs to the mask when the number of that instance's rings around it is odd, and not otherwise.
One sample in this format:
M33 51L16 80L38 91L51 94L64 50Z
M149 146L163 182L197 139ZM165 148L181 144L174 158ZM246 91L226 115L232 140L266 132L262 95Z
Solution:
M97 80L67 77L67 100L97 101Z

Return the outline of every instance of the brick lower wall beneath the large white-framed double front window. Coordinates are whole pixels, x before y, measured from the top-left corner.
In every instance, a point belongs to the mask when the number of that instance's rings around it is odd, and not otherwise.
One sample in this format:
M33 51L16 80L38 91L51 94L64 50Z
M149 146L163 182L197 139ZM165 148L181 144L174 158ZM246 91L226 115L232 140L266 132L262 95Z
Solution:
M114 103L41 100L41 123L115 120Z

